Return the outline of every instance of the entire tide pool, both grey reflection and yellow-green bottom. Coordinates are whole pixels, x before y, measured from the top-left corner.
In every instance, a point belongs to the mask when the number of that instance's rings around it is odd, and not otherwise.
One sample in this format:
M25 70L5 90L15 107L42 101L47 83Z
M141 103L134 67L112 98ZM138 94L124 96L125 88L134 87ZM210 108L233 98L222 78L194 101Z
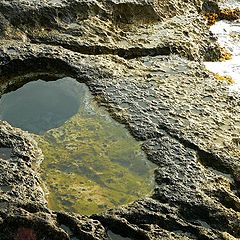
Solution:
M153 188L154 165L141 144L97 106L83 83L72 78L30 82L2 96L0 117L34 133L53 210L98 213Z

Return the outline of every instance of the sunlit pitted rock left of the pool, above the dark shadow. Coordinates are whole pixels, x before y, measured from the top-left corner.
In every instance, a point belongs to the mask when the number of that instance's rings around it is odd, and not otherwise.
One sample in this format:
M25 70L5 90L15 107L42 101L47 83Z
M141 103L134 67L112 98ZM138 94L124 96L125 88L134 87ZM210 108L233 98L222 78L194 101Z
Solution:
M36 170L42 161L41 150L36 142L6 122L0 125L0 148L9 149L9 159L1 157L1 201L45 205L46 201L39 188L39 176Z

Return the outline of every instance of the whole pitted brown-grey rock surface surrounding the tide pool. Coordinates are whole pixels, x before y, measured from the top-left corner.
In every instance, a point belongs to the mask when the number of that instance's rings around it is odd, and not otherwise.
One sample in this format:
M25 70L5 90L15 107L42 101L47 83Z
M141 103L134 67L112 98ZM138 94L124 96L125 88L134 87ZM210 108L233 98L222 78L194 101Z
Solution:
M44 77L85 82L144 141L154 193L106 213L47 208L34 140L0 125L0 239L238 239L239 96L205 71L220 57L213 1L0 2L1 94Z

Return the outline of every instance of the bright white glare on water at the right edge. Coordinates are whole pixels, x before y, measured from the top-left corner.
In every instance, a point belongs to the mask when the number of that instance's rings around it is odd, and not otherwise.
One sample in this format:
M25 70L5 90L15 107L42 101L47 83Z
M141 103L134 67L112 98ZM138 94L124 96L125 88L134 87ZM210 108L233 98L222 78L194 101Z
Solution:
M230 76L235 84L230 90L240 90L240 23L219 21L210 28L218 38L218 43L232 54L232 59L224 62L205 62L206 68L221 76Z

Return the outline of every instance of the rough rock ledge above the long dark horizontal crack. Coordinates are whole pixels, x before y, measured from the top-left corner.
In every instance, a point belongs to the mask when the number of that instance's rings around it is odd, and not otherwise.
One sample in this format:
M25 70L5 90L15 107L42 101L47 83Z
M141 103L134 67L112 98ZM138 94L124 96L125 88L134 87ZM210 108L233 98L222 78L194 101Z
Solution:
M198 14L200 10L200 1L0 3L6 39L124 58L175 52L189 59L217 59L219 49Z

